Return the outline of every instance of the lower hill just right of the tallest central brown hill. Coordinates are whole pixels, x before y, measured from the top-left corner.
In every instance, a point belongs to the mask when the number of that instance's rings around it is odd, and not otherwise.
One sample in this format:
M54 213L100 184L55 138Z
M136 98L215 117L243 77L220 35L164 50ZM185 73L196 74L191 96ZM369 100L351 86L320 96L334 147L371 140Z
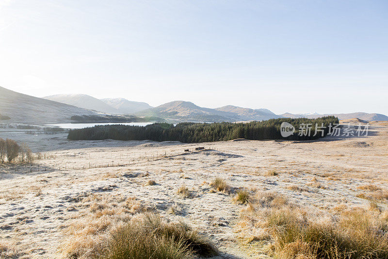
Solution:
M269 119L281 118L268 109L250 109L242 108L233 105L226 105L220 108L216 108L217 111L224 111L234 113L239 116L242 121L265 121Z

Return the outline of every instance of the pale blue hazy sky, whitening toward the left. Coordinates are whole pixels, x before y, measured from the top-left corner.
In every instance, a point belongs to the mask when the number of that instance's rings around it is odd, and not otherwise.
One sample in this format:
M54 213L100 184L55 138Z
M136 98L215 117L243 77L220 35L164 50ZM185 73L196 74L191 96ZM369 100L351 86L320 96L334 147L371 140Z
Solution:
M0 86L388 114L388 1L0 0Z

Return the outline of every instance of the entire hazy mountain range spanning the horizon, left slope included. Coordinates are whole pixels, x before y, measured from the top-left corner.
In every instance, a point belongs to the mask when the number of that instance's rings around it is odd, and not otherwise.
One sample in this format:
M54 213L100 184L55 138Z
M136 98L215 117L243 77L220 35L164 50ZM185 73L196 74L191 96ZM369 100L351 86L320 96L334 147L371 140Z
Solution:
M99 113L100 112L100 113ZM265 121L276 118L318 118L334 115L339 120L358 118L363 121L388 121L388 117L378 113L341 113L341 114L291 114L276 115L268 109L250 109L233 105L219 108L205 108L191 102L174 101L157 107L133 102L124 98L97 99L84 94L61 94L37 98L0 87L0 121L39 123L69 122L74 115L108 116L107 114L131 114L129 117L154 117L157 121ZM89 116L89 117L87 117ZM8 117L10 119L8 119ZM112 117L112 116L111 116ZM117 117L117 116L116 116ZM128 116L126 115L125 118ZM129 118L128 117L128 118ZM133 117L135 118L135 117ZM146 120L146 118L140 118Z

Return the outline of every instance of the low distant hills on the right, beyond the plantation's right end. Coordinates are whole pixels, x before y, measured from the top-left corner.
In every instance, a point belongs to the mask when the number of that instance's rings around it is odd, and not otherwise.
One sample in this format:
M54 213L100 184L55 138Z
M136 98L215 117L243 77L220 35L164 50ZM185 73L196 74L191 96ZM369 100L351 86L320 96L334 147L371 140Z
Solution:
M304 114L291 114L283 113L280 114L282 117L287 118L318 118L323 116L333 115L338 117L339 120L347 120L358 118L363 121L388 121L388 116L379 113L366 113L366 112L354 112L354 113L332 113L332 114L318 114L318 113L304 113Z

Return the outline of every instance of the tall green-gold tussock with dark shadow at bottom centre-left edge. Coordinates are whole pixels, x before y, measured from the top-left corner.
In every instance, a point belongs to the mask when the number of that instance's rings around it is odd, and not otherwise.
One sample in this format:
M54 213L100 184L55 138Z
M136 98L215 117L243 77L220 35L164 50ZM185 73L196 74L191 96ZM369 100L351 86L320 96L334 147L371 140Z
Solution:
M218 253L187 224L167 224L153 213L145 213L114 231L106 251L104 259L184 259Z

